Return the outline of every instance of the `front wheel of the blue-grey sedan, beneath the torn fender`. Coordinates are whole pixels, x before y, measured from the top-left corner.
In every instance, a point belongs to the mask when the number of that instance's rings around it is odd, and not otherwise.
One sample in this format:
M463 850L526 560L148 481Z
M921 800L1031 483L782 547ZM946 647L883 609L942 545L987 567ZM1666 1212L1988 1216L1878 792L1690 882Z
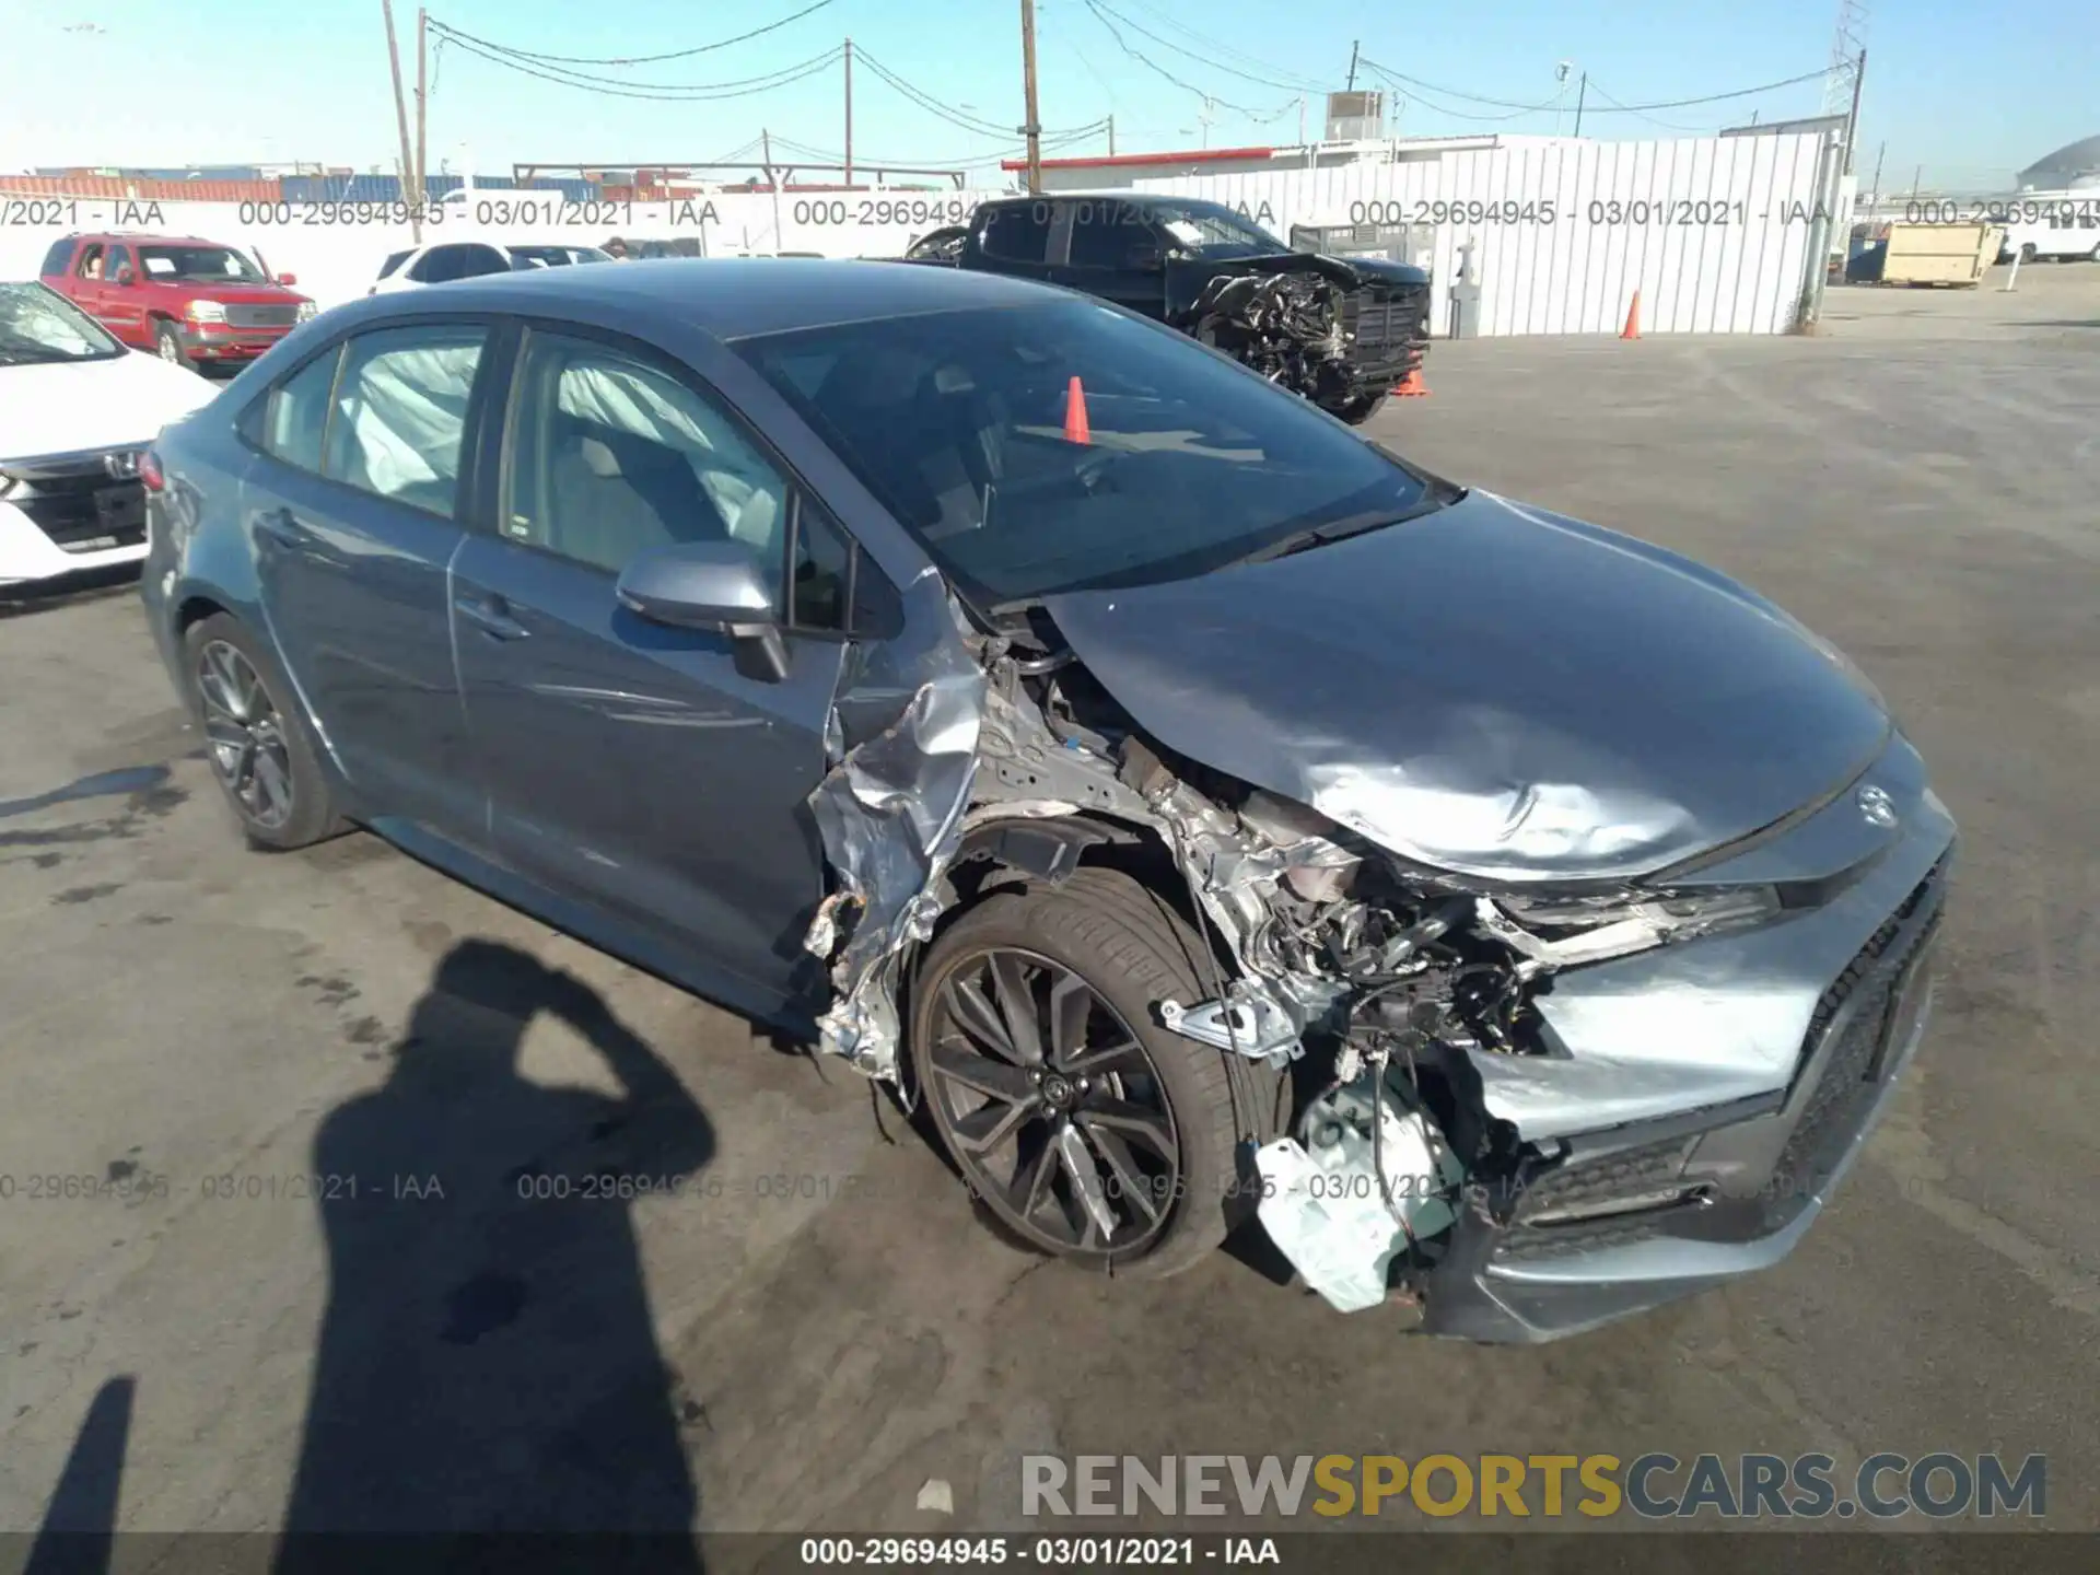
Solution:
M1000 892L958 918L911 991L934 1130L1002 1235L1115 1273L1197 1264L1245 1212L1237 1149L1275 1073L1157 1023L1193 1004L1203 943L1128 876Z

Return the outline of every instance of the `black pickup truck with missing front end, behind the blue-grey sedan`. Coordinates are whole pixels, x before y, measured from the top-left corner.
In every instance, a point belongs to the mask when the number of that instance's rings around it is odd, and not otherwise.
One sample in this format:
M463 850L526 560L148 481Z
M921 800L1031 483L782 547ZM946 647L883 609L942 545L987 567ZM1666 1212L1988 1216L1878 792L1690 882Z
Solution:
M1010 197L922 235L907 262L1006 273L1170 323L1359 424L1422 365L1430 277L1294 252L1222 202L1142 193Z

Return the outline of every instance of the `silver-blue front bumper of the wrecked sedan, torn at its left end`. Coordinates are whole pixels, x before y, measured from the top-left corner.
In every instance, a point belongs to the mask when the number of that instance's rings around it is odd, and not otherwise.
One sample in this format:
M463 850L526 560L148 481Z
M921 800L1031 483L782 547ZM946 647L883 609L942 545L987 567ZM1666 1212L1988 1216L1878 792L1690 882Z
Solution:
M1544 1060L1533 1088L1491 1088L1489 1102L1560 1163L1514 1199L1468 1191L1424 1283L1424 1331L1556 1340L1793 1252L1865 1149L1932 1008L1953 819L1900 739L1869 781L1915 792L1896 800L1894 840L1827 903L1556 979L1546 1016L1567 1058ZM1846 815L1858 819L1852 792L1739 863L1827 863L1838 832L1825 817ZM1632 1119L1571 1130L1579 1111L1602 1109L1581 1094L1592 1077L1619 1090Z

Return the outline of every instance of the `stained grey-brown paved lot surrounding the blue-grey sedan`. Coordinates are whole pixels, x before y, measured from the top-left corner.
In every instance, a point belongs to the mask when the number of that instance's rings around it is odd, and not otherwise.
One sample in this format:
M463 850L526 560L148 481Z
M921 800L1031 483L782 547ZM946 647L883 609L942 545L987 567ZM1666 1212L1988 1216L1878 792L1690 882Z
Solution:
M0 806L0 1529L40 1522L126 1376L132 1529L294 1502L991 1529L1018 1525L1021 1453L1436 1449L2048 1451L2050 1522L2100 1527L2100 269L1947 300L1833 292L1819 340L1445 344L1432 397L1380 418L1833 636L1966 834L1934 1035L1806 1245L1537 1350L1401 1338L1224 1254L1166 1285L1037 1266L846 1069L370 836L246 853L128 594L0 617L0 800L166 769ZM426 1000L475 939L508 949L470 991L496 1006ZM609 1067L651 1058L687 1098L626 1111ZM447 1222L332 1205L332 1283L296 1178L359 1144L437 1178ZM552 1239L517 1195L533 1163L699 1168ZM930 1478L953 1518L914 1508Z

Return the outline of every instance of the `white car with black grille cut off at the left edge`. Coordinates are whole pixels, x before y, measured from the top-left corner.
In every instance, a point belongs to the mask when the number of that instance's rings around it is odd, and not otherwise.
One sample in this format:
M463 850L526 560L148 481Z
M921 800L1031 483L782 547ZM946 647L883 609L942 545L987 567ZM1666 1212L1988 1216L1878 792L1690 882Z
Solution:
M0 281L0 588L145 556L139 458L218 386Z

